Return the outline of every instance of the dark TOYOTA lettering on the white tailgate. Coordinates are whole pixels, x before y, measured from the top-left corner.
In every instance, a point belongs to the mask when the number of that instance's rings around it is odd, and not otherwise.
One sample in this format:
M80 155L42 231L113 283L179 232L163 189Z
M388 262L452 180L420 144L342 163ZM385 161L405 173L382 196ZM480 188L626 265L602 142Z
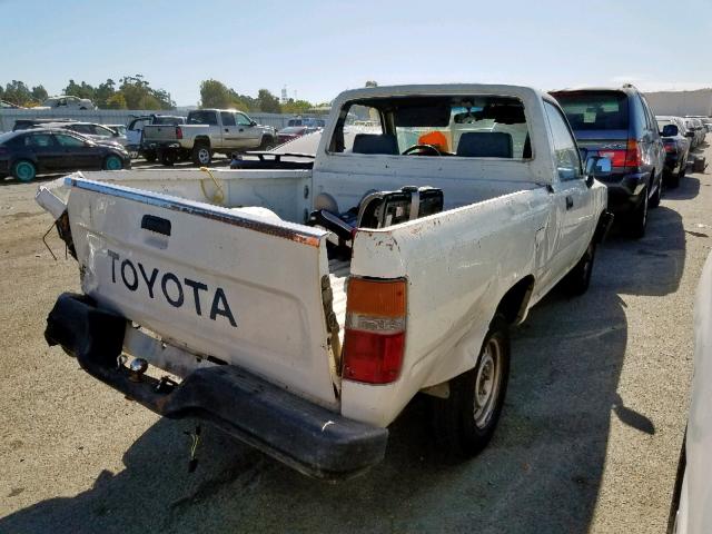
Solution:
M136 291L139 287L145 288L150 298L155 298L156 295L161 294L164 299L175 308L180 308L186 305L186 293L184 286L189 287L192 290L192 301L195 304L195 312L198 316L202 316L201 306L201 293L210 295L210 288L207 284L198 280L191 280L190 278L179 278L172 273L159 273L154 267L147 269L140 261L131 261L128 258L121 259L118 253L108 250L107 254L111 258L111 281L118 284L117 279L120 279L129 291ZM137 268L138 266L138 268ZM188 305L189 306L189 305ZM227 301L225 291L221 287L218 287L212 291L212 304L210 305L209 317L212 320L217 320L218 315L225 317L230 325L237 327L230 305Z

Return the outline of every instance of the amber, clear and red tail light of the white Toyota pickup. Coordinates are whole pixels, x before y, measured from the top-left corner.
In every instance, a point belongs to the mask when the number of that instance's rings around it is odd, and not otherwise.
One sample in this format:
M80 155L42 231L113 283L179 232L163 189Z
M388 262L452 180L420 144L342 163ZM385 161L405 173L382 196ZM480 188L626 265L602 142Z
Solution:
M405 314L404 279L348 279L344 379L389 384L398 378L405 348Z

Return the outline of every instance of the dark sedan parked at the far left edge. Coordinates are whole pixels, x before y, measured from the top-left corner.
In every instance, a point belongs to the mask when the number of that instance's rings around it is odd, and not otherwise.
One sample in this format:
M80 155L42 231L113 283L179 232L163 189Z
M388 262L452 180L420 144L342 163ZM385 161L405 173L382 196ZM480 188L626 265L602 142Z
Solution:
M32 129L0 135L0 177L12 175L20 181L31 181L41 172L130 167L131 159L123 148L72 131Z

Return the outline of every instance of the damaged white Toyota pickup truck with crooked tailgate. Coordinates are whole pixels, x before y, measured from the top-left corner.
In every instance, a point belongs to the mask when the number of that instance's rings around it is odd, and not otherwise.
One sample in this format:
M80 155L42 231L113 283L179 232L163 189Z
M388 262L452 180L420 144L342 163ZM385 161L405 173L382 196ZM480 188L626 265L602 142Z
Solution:
M377 126L345 136L354 116ZM312 169L40 186L83 290L46 338L158 414L313 476L378 463L419 392L442 446L472 456L502 412L508 328L557 283L589 286L606 172L534 89L347 91Z

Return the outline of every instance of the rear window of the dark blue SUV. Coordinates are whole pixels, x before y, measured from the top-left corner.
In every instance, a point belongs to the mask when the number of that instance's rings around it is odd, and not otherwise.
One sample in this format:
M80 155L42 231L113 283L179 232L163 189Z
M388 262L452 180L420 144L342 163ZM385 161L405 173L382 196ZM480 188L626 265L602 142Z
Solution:
M574 130L627 130L627 96L620 91L553 93Z

